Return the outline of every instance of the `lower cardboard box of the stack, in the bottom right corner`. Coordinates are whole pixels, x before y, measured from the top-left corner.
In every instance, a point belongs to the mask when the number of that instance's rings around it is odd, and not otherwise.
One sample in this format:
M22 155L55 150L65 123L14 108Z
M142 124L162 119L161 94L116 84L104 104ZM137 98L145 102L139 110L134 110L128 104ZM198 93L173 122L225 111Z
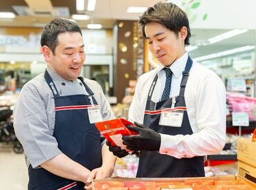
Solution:
M256 184L256 167L242 161L238 161L237 166L239 177L255 182Z

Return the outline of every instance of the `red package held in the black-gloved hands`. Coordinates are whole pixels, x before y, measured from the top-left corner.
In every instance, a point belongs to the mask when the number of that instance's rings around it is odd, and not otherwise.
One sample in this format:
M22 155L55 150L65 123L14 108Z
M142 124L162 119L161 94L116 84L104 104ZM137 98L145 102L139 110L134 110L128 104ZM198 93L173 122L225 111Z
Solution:
M100 131L100 135L104 135L112 146L120 146L121 149L126 149L125 145L122 144L122 136L138 134L134 131L129 131L126 125L135 126L133 123L122 118L95 123L98 131Z

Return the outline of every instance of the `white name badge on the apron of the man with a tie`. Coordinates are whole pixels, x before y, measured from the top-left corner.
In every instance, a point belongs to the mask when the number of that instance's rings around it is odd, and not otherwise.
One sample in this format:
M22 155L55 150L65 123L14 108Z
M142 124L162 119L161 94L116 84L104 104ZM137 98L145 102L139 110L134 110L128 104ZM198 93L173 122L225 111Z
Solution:
M163 111L159 124L163 126L181 127L183 121L183 111Z

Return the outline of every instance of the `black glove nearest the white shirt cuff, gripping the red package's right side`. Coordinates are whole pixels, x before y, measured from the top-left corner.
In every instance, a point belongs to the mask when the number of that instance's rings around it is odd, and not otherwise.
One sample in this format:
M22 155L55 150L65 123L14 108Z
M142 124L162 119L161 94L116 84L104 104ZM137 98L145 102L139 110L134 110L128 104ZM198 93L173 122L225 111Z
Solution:
M131 131L136 131L138 135L123 136L122 144L127 145L127 149L131 151L159 151L161 135L143 124L138 124L137 122L134 124L136 126L127 125L127 128Z

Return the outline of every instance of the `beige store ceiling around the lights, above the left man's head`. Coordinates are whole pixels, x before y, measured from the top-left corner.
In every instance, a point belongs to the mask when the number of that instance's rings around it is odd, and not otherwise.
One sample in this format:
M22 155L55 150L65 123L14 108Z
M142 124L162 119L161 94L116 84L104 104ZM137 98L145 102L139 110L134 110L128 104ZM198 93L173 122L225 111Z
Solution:
M129 6L152 6L156 0L97 0L93 12L77 12L75 0L8 0L1 1L0 12L15 12L15 19L0 19L0 26L42 27L53 17L66 17L73 14L90 15L88 21L77 21L82 28L87 23L101 23L103 28L113 28L117 19L137 20L140 14L127 13ZM85 0L85 9L87 0Z

